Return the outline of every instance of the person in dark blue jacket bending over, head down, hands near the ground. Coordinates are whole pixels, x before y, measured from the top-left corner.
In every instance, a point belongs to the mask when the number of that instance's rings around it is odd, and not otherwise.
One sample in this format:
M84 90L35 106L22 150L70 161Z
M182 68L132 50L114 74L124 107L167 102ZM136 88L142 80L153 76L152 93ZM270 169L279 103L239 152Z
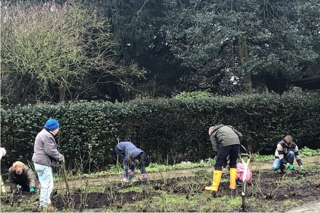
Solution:
M115 152L121 159L124 168L123 182L136 181L133 179L133 175L137 166L140 167L143 179L147 179L146 168L144 166L147 156L142 150L138 149L131 142L124 141L117 144Z

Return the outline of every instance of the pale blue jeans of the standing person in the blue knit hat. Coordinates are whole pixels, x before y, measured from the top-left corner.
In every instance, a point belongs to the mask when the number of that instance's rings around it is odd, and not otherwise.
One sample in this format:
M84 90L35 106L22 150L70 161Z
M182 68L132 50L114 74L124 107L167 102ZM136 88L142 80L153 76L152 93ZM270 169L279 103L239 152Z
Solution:
M35 162L34 165L41 184L40 206L46 207L47 204L51 203L50 195L53 190L52 168L50 166L40 165Z

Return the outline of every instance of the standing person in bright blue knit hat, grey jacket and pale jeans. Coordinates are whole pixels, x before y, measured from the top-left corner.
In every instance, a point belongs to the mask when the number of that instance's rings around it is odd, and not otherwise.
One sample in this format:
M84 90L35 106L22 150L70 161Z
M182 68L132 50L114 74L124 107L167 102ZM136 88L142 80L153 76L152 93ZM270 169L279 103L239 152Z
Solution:
M57 162L65 161L65 157L57 150L54 138L59 131L59 126L60 124L55 119L50 118L35 140L32 161L41 184L39 211L56 211L50 201L50 194L53 190L52 168L56 167Z

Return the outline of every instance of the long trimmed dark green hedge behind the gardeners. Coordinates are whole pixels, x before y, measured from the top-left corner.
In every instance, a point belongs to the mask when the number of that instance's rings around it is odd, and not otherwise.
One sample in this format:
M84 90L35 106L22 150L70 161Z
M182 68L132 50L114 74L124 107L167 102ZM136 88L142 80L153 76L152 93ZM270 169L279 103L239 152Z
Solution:
M88 159L89 151L91 169L115 164L118 137L131 140L151 162L205 159L212 153L208 128L220 123L242 132L251 152L273 154L286 134L300 147L313 143L319 148L320 100L315 94L80 102L1 110L4 168L15 160L31 160L35 137L50 117L61 124L57 145L71 168L80 157Z

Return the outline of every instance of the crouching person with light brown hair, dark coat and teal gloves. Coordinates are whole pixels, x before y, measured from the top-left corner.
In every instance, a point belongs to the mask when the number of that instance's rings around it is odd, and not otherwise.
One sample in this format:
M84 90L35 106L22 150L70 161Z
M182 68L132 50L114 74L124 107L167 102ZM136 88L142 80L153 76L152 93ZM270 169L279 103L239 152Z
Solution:
M9 168L9 183L11 192L14 194L20 191L34 193L38 189L35 173L20 161L14 162ZM17 185L21 188L18 189Z

